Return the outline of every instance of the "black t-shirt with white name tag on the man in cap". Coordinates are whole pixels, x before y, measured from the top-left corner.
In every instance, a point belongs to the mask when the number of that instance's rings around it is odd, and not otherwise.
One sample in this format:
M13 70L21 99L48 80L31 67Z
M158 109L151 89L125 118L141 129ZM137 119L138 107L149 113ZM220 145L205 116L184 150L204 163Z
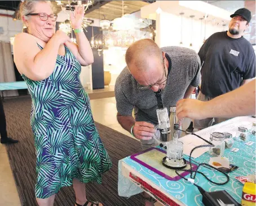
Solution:
M211 35L202 45L201 91L217 97L239 88L242 80L255 77L255 53L244 37L230 38L227 31Z

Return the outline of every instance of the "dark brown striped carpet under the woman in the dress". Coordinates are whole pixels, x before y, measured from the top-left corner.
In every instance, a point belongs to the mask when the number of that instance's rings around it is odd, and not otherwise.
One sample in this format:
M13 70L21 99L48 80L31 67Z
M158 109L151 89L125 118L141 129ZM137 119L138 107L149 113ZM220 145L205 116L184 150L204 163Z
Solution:
M34 149L34 139L30 127L30 97L5 99L4 103L7 131L12 138L20 140L18 144L7 145L8 157L17 190L20 196L21 205L37 205L34 196L34 184L36 181L36 154ZM103 175L103 184L87 184L87 198L100 200L107 206L138 206L143 205L140 194L132 196L130 199L122 198L117 193L117 171L118 160L133 153L139 152L140 144L120 132L110 129L104 125L96 123L101 140L111 156L113 167L111 171ZM63 187L56 195L55 205L74 205L73 188Z

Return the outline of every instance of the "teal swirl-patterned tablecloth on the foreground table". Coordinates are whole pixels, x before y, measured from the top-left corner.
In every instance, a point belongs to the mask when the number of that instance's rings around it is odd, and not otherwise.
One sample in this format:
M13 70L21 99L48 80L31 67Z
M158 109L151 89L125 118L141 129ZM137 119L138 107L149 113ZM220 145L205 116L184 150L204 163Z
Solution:
M255 119L254 119L255 121ZM235 171L228 173L230 180L225 185L215 185L209 182L200 174L196 175L195 183L200 185L206 191L226 190L237 202L241 203L242 185L235 177L255 175L255 136L250 135L248 141L253 141L253 145L245 145L244 141L235 141L233 148L239 148L238 152L231 152L231 149L225 149L224 157L229 159L231 164L235 164L239 168ZM208 152L196 158L198 163L209 163L210 155ZM187 155L184 158L188 159ZM178 199L184 205L203 205L202 196L197 187L190 182L180 179L178 181L169 181L164 177L152 172L148 168L142 166L138 162L133 161L130 157L126 157L119 161L118 171L118 194L120 196L130 197L141 193L143 190L134 184L129 178L122 174L122 162L127 164L130 168L139 173L140 176L148 180L148 184L154 184L161 189L164 193L169 194L174 199ZM220 172L214 172L205 167L200 167L198 171L204 172L214 182L224 182L226 177ZM187 176L188 177L188 176Z

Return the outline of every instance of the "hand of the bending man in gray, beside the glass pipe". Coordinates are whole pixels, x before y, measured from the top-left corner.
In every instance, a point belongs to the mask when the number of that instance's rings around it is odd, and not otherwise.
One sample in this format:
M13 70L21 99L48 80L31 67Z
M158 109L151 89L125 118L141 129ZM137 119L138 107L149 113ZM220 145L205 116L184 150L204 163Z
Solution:
M135 122L133 134L137 139L149 140L156 133L154 125L148 122Z

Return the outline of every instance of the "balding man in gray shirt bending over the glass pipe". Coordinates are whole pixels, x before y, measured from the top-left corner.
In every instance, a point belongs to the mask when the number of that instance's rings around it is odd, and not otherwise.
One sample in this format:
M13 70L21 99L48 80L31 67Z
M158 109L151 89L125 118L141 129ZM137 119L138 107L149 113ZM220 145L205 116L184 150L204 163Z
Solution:
M117 120L147 149L156 145L152 138L158 124L154 92L163 89L167 110L179 99L189 98L200 84L200 58L188 48L159 48L153 40L142 39L127 49L125 59L127 67L115 85Z

